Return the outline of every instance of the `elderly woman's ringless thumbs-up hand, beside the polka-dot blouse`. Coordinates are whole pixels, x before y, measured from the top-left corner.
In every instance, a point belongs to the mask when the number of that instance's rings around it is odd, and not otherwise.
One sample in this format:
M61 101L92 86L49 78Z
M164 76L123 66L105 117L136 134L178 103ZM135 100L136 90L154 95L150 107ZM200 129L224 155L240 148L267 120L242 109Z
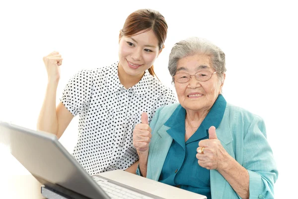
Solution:
M149 127L148 114L143 112L140 124L137 124L133 132L133 145L137 149L138 155L149 152L149 142L151 140L151 128Z

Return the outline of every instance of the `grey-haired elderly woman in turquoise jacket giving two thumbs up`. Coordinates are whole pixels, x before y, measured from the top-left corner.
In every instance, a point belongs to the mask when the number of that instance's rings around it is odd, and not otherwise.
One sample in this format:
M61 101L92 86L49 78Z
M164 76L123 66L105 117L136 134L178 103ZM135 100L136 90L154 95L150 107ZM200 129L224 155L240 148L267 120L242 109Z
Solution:
M208 199L273 199L278 172L262 118L226 103L224 52L199 38L169 56L180 103L146 113L133 144L137 173Z

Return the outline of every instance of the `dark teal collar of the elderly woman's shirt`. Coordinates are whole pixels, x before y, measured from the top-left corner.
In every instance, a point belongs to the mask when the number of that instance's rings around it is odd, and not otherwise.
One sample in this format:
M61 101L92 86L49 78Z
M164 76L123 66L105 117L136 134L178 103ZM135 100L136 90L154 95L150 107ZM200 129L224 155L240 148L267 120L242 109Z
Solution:
M204 137L209 138L208 129L211 126L219 127L224 116L224 110L226 101L223 95L219 95L217 100L214 102L209 113L201 123L197 131L187 140L185 143L185 114L186 110L179 104L170 118L164 123L165 126L170 127L167 133L178 142L184 149L185 144L200 140ZM179 133L180 132L180 133Z

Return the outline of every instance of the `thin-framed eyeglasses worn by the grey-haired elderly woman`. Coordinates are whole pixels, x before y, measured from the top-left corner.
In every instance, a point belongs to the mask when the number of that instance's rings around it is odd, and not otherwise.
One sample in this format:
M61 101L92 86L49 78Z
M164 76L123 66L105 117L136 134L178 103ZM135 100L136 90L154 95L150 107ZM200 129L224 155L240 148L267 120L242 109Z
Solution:
M210 80L212 75L216 73L217 71L213 73L210 71L199 71L195 75L190 75L188 73L177 73L176 75L174 75L173 78L179 83L186 83L190 80L191 76L195 76L196 79L199 80L200 82L206 82Z

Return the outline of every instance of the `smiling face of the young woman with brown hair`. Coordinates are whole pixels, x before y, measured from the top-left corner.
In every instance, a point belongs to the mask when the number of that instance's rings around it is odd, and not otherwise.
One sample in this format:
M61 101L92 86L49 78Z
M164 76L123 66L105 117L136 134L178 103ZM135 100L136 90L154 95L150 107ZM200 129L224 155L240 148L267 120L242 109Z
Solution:
M143 75L160 52L157 37L152 30L123 36L119 41L119 67L123 67L131 76Z

